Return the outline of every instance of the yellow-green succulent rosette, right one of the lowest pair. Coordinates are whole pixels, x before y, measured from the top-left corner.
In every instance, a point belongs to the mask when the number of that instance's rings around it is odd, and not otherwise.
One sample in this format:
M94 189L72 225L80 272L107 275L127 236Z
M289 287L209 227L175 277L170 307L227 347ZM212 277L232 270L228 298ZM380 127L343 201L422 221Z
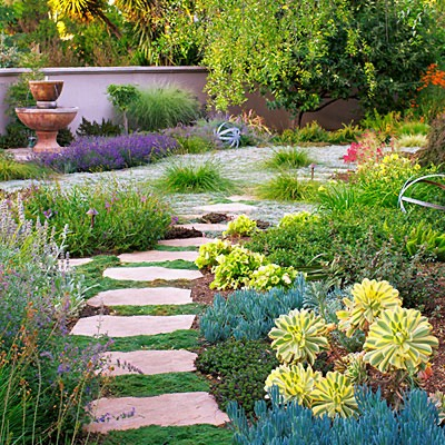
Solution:
M312 397L312 409L317 416L350 417L358 413L354 386L338 372L329 372L316 382Z

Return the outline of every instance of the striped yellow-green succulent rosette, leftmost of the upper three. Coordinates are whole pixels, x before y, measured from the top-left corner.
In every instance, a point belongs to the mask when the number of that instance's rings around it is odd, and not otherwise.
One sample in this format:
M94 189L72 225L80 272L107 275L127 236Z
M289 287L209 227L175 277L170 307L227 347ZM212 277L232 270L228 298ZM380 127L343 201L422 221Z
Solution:
M277 358L285 364L308 362L314 365L317 355L329 348L329 326L312 310L294 309L275 320L269 332Z

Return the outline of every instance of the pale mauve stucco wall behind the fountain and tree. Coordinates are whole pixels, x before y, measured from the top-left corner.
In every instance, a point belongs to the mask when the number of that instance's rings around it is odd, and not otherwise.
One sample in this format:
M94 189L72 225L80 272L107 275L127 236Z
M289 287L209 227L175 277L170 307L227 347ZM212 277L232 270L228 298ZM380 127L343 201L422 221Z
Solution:
M7 116L4 96L10 83L17 81L22 69L0 69L0 132L4 131ZM46 68L42 70L49 79L63 80L65 86L58 100L59 107L79 107L79 112L71 129L76 130L81 118L89 121L113 119L111 103L107 99L107 87L110 83L134 83L139 87L152 83L174 82L195 92L199 101L206 103L204 92L207 71L199 67L115 67L115 68ZM266 102L259 95L249 95L244 109L254 109L259 116L265 117L268 126L281 130L293 126L293 119L284 110L268 110ZM236 113L239 107L234 107L230 112ZM356 101L340 101L326 107L318 113L306 113L304 122L316 119L322 126L335 129L342 122L348 122L357 117Z

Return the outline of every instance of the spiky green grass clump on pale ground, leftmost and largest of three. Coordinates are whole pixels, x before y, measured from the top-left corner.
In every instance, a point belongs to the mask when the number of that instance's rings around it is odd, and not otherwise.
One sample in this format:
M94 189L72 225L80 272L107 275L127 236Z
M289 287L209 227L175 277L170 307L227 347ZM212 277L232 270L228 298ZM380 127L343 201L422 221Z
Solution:
M235 190L234 182L222 176L220 165L214 160L201 164L172 162L166 168L159 187L179 194Z

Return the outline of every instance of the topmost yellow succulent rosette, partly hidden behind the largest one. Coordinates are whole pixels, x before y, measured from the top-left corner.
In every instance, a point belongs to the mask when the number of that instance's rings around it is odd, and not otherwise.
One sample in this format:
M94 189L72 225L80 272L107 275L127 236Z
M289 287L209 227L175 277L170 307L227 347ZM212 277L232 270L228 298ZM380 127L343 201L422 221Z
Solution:
M388 281L369 280L365 278L360 284L356 283L352 289L353 299L344 298L346 310L338 310L338 329L346 332L350 337L358 328L367 330L385 309L394 309L402 306L398 290Z

